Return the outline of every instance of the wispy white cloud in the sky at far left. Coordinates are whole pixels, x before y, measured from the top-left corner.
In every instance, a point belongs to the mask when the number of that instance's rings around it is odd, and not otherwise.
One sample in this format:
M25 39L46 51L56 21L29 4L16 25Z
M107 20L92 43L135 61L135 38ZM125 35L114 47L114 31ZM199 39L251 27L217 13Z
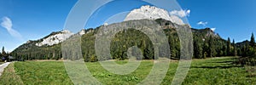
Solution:
M5 28L12 37L22 39L20 33L13 29L12 20L10 20L8 17L3 17L2 20L3 22L1 23L1 26L3 26L3 28Z

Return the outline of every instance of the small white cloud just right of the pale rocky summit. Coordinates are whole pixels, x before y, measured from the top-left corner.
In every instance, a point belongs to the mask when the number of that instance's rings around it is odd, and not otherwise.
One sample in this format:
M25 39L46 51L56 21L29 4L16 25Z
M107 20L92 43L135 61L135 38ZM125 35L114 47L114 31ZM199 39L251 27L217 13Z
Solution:
M190 9L188 9L188 10L181 9L181 10L173 10L170 12L170 14L177 15L177 16L183 18L183 17L189 16L190 12L191 12Z

